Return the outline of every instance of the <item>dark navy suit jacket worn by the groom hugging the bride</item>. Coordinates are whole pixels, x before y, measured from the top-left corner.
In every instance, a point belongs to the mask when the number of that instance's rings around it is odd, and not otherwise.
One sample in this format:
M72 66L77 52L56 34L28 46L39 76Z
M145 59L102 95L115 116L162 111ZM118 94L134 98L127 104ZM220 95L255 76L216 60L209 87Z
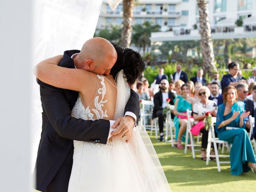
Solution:
M70 56L78 52L80 51L65 51L59 66L75 68ZM34 174L36 189L44 191L63 163L72 166L73 140L106 144L110 122L103 119L85 121L71 117L78 92L56 88L38 79L37 82L40 85L43 112L42 133ZM133 112L138 117L139 110L138 95L131 90L125 112ZM67 174L70 176L70 172ZM68 186L68 181L66 182Z

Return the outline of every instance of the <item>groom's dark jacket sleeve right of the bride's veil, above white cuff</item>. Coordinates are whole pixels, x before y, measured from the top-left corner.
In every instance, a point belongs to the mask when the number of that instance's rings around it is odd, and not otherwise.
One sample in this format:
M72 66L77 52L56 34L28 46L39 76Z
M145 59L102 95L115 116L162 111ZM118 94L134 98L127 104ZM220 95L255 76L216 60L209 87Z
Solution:
M137 125L139 121L139 113L140 113L140 101L139 101L139 96L134 92L134 90L131 89L131 94L130 98L124 108L124 113L125 112L132 112L136 115L137 117Z

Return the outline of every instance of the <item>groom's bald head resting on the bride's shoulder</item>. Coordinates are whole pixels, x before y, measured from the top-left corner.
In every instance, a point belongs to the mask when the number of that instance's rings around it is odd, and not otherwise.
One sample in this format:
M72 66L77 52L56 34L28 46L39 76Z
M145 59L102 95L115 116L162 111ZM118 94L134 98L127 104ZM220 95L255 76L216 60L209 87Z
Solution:
M95 37L87 40L74 58L76 67L96 74L109 74L117 59L114 46L106 39Z

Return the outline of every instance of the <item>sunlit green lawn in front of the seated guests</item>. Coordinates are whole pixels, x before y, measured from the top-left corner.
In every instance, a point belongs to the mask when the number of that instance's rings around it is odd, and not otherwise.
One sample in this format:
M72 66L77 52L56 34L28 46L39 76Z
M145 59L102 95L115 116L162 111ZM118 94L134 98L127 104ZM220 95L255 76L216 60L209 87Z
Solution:
M218 172L216 162L210 161L206 166L206 161L200 159L199 151L193 159L191 150L184 154L184 150L172 147L170 143L158 142L154 136L150 138L172 192L256 191L256 173L250 171L232 176L230 164L221 164L221 172Z

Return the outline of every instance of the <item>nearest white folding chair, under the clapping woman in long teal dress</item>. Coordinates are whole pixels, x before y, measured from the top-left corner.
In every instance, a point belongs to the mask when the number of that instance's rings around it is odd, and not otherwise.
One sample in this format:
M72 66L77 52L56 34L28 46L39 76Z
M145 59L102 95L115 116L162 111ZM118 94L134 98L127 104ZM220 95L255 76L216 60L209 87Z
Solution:
M219 138L215 137L214 125L213 125L214 123L216 123L216 117L212 117L212 125L209 128L208 144L207 144L207 149L206 149L206 165L209 164L211 157L216 158L218 172L220 172L220 164L221 163L230 163L230 161L220 161L220 159L219 159L219 157L229 157L229 155L219 155L219 153L218 153L217 143L224 144L225 141L219 140ZM212 143L213 143L215 155L210 154Z

